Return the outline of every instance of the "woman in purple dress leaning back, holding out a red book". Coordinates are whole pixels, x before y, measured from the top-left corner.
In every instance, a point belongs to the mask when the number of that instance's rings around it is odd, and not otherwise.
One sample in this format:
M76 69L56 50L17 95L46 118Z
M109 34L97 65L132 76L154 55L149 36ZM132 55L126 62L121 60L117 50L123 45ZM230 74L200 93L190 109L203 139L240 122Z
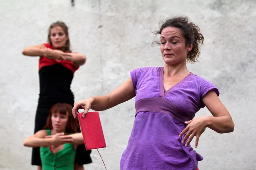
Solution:
M136 117L121 170L196 170L202 156L195 147L206 127L217 133L234 130L230 113L211 82L188 71L186 62L196 62L204 37L187 17L166 20L160 34L164 67L137 68L119 88L105 96L75 102L73 116L84 109L104 111L135 96ZM207 107L212 116L193 119Z

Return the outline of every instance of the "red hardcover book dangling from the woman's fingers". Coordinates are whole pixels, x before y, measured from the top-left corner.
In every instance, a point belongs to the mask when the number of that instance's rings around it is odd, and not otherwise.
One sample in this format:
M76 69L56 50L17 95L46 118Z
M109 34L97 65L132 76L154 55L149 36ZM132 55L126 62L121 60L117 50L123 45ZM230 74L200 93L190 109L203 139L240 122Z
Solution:
M78 113L77 116L86 150L106 147L99 112L88 112L84 118L82 113Z

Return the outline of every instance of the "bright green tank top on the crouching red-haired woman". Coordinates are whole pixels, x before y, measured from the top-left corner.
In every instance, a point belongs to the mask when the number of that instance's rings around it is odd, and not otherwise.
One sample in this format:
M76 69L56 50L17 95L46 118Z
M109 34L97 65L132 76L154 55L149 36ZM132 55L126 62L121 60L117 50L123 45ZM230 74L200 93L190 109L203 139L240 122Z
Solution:
M46 130L51 135L49 129ZM76 150L70 143L57 153L52 153L48 147L40 147L40 157L43 170L74 170Z

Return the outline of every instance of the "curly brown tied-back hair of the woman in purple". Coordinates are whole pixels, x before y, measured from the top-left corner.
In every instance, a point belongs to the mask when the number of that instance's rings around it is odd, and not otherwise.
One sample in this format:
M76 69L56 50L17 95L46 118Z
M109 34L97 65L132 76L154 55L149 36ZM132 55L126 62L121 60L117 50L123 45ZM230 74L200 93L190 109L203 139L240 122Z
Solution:
M180 28L182 36L186 40L186 45L193 43L193 48L187 55L187 61L190 63L198 62L200 45L203 45L204 42L204 36L201 34L199 27L194 23L189 23L189 17L173 17L165 20L160 26L160 30L154 31L154 35L161 34L163 28L166 27ZM154 41L153 43L160 45L160 42L158 41Z

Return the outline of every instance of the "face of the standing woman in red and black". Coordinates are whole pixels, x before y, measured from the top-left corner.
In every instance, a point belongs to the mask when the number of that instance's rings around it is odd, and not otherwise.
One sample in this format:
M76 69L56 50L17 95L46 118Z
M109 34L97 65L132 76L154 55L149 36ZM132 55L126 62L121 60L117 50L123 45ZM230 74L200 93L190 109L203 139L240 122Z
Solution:
M68 36L60 26L55 26L51 29L50 40L54 48L60 49L66 44Z

